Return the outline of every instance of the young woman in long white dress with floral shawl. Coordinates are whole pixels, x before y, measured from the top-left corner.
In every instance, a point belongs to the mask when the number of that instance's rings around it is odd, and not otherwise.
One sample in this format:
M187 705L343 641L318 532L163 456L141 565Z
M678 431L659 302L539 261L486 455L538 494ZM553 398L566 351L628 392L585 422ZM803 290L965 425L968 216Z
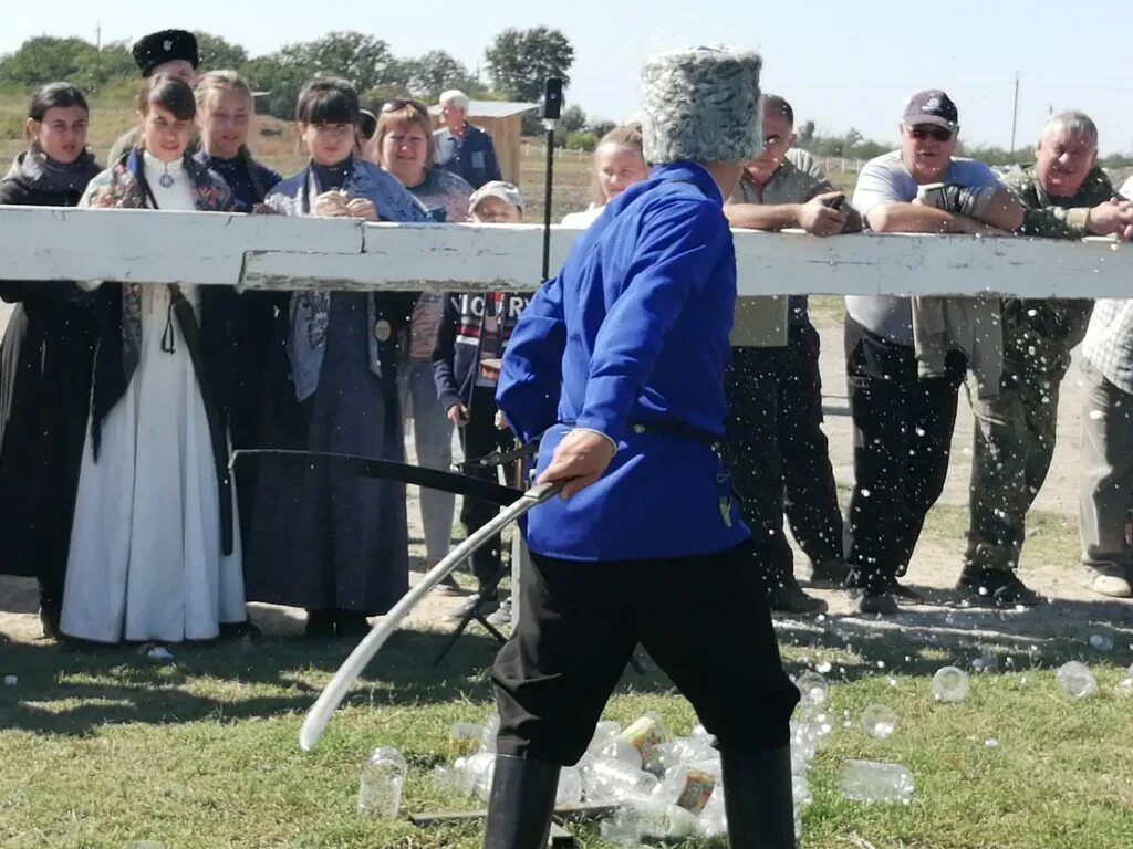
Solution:
M80 206L230 208L224 181L185 154L193 89L157 77L139 113L138 146ZM246 618L228 436L212 403L228 291L105 283L90 298L99 349L61 631L100 643L213 638Z

